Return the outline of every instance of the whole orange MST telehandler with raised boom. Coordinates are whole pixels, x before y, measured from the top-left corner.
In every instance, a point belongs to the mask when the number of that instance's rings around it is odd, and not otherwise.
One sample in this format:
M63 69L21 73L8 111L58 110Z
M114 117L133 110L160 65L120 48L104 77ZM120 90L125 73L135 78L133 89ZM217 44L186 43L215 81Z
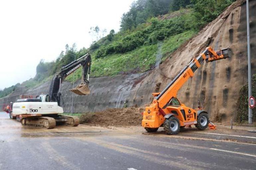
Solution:
M228 48L214 51L207 47L197 58L193 58L189 64L167 85L161 93L153 93L154 99L143 112L142 126L147 132L156 132L163 126L169 135L178 134L181 128L195 125L204 130L207 126L215 129L215 125L209 122L208 113L202 110L187 107L176 98L178 90L185 84L201 63L228 58Z

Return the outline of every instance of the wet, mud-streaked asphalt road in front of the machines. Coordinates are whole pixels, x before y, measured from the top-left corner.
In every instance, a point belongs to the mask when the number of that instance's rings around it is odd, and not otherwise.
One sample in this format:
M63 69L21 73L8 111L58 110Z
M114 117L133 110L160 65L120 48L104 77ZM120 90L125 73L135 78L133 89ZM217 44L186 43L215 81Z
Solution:
M0 170L256 169L254 133L144 132L141 127L22 127L0 112Z

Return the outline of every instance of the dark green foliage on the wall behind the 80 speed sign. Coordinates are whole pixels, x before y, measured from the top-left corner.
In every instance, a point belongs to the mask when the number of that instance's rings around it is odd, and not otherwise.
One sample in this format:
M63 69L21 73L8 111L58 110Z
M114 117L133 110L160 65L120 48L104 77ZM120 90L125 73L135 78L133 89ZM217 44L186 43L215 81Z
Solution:
M252 96L256 96L256 74L252 76ZM256 121L256 107L252 109L253 122ZM239 98L236 104L236 121L239 123L248 122L248 84L241 87Z

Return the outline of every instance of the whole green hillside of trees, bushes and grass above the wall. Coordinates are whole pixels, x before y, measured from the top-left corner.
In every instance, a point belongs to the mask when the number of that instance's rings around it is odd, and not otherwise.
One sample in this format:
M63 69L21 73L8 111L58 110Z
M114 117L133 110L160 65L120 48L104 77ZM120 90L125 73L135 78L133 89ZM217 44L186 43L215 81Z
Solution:
M76 44L52 62L41 60L33 79L22 85L32 87L49 79L63 66L86 53L92 56L91 75L114 76L122 73L144 72L154 68L157 43L163 42L164 60L180 45L195 35L205 24L214 20L235 0L136 0L121 16L120 31L111 30L99 37L100 28L92 27L97 36L89 48L77 50ZM75 73L79 79L81 72ZM67 81L71 81L67 77ZM0 98L10 94L20 84L0 90Z

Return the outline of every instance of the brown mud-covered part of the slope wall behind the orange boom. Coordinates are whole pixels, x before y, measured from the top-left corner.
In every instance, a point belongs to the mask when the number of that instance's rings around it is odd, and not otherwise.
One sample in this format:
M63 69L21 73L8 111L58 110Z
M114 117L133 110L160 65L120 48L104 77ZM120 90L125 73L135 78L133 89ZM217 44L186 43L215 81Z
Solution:
M242 3L242 1L240 1ZM230 58L204 63L178 92L178 98L190 107L200 100L211 118L229 121L236 113L239 89L247 78L246 4L237 2L227 8L212 23L203 28L187 44L175 51L161 66L162 74L154 70L146 80L156 77L162 90L185 67L192 56L197 56L207 46L215 50L230 48ZM256 1L250 1L250 38L252 74L256 73ZM168 78L167 78L168 77Z

